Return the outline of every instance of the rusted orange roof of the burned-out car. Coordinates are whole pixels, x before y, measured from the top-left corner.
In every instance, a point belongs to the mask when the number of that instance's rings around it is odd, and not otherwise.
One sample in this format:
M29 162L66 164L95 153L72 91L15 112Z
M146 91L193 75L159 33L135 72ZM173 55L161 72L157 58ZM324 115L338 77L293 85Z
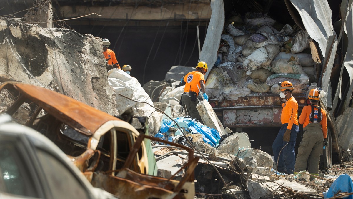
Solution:
M5 82L0 89L16 89L26 98L40 105L60 121L70 125L75 130L91 136L104 123L110 120L119 120L103 111L97 110L80 101L52 90L18 82Z

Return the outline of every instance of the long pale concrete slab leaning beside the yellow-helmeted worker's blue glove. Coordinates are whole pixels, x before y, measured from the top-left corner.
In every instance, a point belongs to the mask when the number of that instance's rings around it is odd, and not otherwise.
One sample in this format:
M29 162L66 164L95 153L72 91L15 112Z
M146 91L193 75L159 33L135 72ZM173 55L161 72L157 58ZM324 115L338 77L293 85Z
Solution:
M220 135L226 134L221 121L216 116L215 111L212 109L210 103L206 100L202 100L196 106L197 111L199 112L203 123L213 129L216 129Z

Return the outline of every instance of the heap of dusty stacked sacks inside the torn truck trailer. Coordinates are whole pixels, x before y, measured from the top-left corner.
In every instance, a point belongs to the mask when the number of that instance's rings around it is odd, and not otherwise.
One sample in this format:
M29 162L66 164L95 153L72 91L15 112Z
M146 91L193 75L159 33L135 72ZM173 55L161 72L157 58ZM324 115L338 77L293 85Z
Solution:
M221 35L217 61L206 81L209 95L236 100L251 92L278 94L277 83L284 80L292 82L293 94L298 94L306 92L309 78L316 81L315 63L308 48L311 39L306 31L293 31L289 24L281 25L278 31L272 18L254 13L247 13L244 21L239 16L229 18L225 25L223 33L228 34ZM228 74L238 75L231 78L237 85L232 93L238 95L225 94L227 85L222 79Z

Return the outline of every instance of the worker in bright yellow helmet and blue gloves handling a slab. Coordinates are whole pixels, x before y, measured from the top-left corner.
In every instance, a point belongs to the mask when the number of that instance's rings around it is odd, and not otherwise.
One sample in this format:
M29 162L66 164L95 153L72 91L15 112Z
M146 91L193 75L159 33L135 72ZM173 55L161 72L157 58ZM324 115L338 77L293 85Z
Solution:
M204 76L207 70L206 62L199 62L195 71L191 71L181 78L181 82L185 82L184 93L180 99L181 105L186 108L191 118L197 119L200 123L202 123L201 116L196 109L196 105L198 104L197 96L199 88L201 88L203 98L208 101Z

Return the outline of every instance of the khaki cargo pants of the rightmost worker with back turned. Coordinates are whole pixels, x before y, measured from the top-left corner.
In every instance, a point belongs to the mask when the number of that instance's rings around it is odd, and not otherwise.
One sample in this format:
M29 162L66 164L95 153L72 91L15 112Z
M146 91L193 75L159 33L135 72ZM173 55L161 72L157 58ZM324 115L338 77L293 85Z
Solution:
M299 144L294 174L305 171L309 160L309 173L318 176L320 155L322 154L324 141L321 124L309 123L303 130L303 141Z

